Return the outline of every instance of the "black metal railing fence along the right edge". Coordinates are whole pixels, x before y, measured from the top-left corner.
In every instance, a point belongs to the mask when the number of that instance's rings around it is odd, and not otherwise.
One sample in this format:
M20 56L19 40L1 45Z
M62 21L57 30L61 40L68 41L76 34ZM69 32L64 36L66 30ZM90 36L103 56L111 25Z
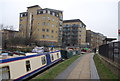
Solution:
M99 54L120 64L120 41L99 46Z

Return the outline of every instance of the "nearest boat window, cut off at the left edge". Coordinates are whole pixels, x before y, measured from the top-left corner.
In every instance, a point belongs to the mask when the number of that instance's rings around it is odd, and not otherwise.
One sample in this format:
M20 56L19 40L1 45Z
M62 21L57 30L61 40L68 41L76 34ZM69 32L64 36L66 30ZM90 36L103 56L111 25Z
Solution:
M0 68L0 81L3 79L9 80L10 79L10 69L9 66L5 66Z

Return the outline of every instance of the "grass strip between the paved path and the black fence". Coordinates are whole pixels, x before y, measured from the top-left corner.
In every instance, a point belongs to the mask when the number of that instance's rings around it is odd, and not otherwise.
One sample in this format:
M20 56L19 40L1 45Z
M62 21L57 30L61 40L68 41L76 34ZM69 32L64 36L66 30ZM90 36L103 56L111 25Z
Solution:
M106 67L99 56L96 54L94 56L95 65L99 74L100 79L118 79L117 75L113 74L109 67Z

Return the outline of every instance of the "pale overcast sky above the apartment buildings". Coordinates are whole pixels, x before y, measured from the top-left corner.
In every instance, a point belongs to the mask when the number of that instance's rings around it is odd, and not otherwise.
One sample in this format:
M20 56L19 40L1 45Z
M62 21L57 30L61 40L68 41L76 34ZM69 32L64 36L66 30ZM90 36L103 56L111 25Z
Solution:
M80 19L87 29L108 37L118 36L119 0L0 0L0 24L19 28L19 13L39 5L63 11L63 19Z

